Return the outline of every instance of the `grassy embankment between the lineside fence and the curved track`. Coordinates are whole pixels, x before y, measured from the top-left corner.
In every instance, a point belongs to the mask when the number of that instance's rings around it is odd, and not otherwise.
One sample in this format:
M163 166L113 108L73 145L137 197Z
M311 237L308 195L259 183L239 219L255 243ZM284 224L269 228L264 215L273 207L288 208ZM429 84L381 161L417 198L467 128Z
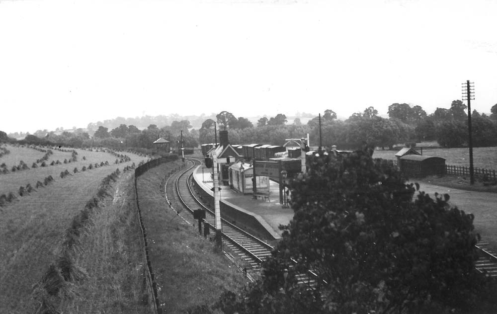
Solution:
M166 163L138 178L138 197L156 281L159 300L166 313L185 313L187 309L218 300L223 289L243 287L246 279L235 265L220 253L213 242L198 235L166 205L160 190L165 174L180 161Z

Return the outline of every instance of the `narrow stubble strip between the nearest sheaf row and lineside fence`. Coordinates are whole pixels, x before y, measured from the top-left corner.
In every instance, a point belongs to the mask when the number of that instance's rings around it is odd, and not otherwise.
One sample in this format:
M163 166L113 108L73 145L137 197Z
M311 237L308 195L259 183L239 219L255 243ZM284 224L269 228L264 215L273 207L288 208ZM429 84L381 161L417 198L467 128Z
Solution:
M124 173L113 198L90 218L77 257L89 278L77 284L78 294L64 302L62 313L152 313L142 302L146 263L133 178L132 171Z

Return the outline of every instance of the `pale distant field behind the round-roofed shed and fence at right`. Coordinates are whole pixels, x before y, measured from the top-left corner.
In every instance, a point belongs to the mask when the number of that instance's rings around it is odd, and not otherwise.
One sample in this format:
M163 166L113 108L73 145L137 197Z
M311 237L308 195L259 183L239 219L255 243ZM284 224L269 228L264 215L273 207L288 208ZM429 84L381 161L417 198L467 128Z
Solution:
M418 150L420 152L420 150ZM397 151L374 151L374 158L395 160ZM469 167L469 149L423 149L424 156L443 157L445 164ZM477 168L497 170L497 147L476 147L473 149L473 165Z

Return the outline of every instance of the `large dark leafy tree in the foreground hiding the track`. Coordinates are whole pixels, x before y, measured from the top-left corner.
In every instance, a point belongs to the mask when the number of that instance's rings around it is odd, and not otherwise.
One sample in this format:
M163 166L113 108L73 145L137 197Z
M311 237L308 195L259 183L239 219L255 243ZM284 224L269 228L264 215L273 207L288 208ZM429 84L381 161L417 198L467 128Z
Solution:
M413 199L418 185L370 152L313 157L309 166L291 183L295 215L262 279L239 296L226 293L219 309L420 313L475 302L485 279L474 272L473 215L451 208L448 195ZM310 269L316 286L299 286Z

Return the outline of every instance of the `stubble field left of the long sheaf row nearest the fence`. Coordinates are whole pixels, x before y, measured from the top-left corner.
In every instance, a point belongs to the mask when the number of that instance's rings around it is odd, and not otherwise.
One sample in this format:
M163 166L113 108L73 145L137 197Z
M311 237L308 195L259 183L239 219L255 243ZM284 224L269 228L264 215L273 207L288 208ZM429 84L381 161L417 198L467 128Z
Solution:
M101 154L106 153L85 151L85 154L89 160L83 161L81 166L89 164L91 158L102 161ZM69 167L65 164L0 176L0 193L4 193L12 187L15 191L26 183L33 185L50 173L44 171L55 171L56 174L52 184L40 187L30 195L18 196L17 201L0 208L0 313L34 313L33 285L57 256L62 233L97 192L102 178L118 167L122 170L132 162L138 164L143 158L127 155L132 158L129 162L79 172L63 179L58 177L58 173ZM24 156L18 157L27 160ZM115 160L110 154L105 157L109 162ZM74 166L76 163L68 170Z

